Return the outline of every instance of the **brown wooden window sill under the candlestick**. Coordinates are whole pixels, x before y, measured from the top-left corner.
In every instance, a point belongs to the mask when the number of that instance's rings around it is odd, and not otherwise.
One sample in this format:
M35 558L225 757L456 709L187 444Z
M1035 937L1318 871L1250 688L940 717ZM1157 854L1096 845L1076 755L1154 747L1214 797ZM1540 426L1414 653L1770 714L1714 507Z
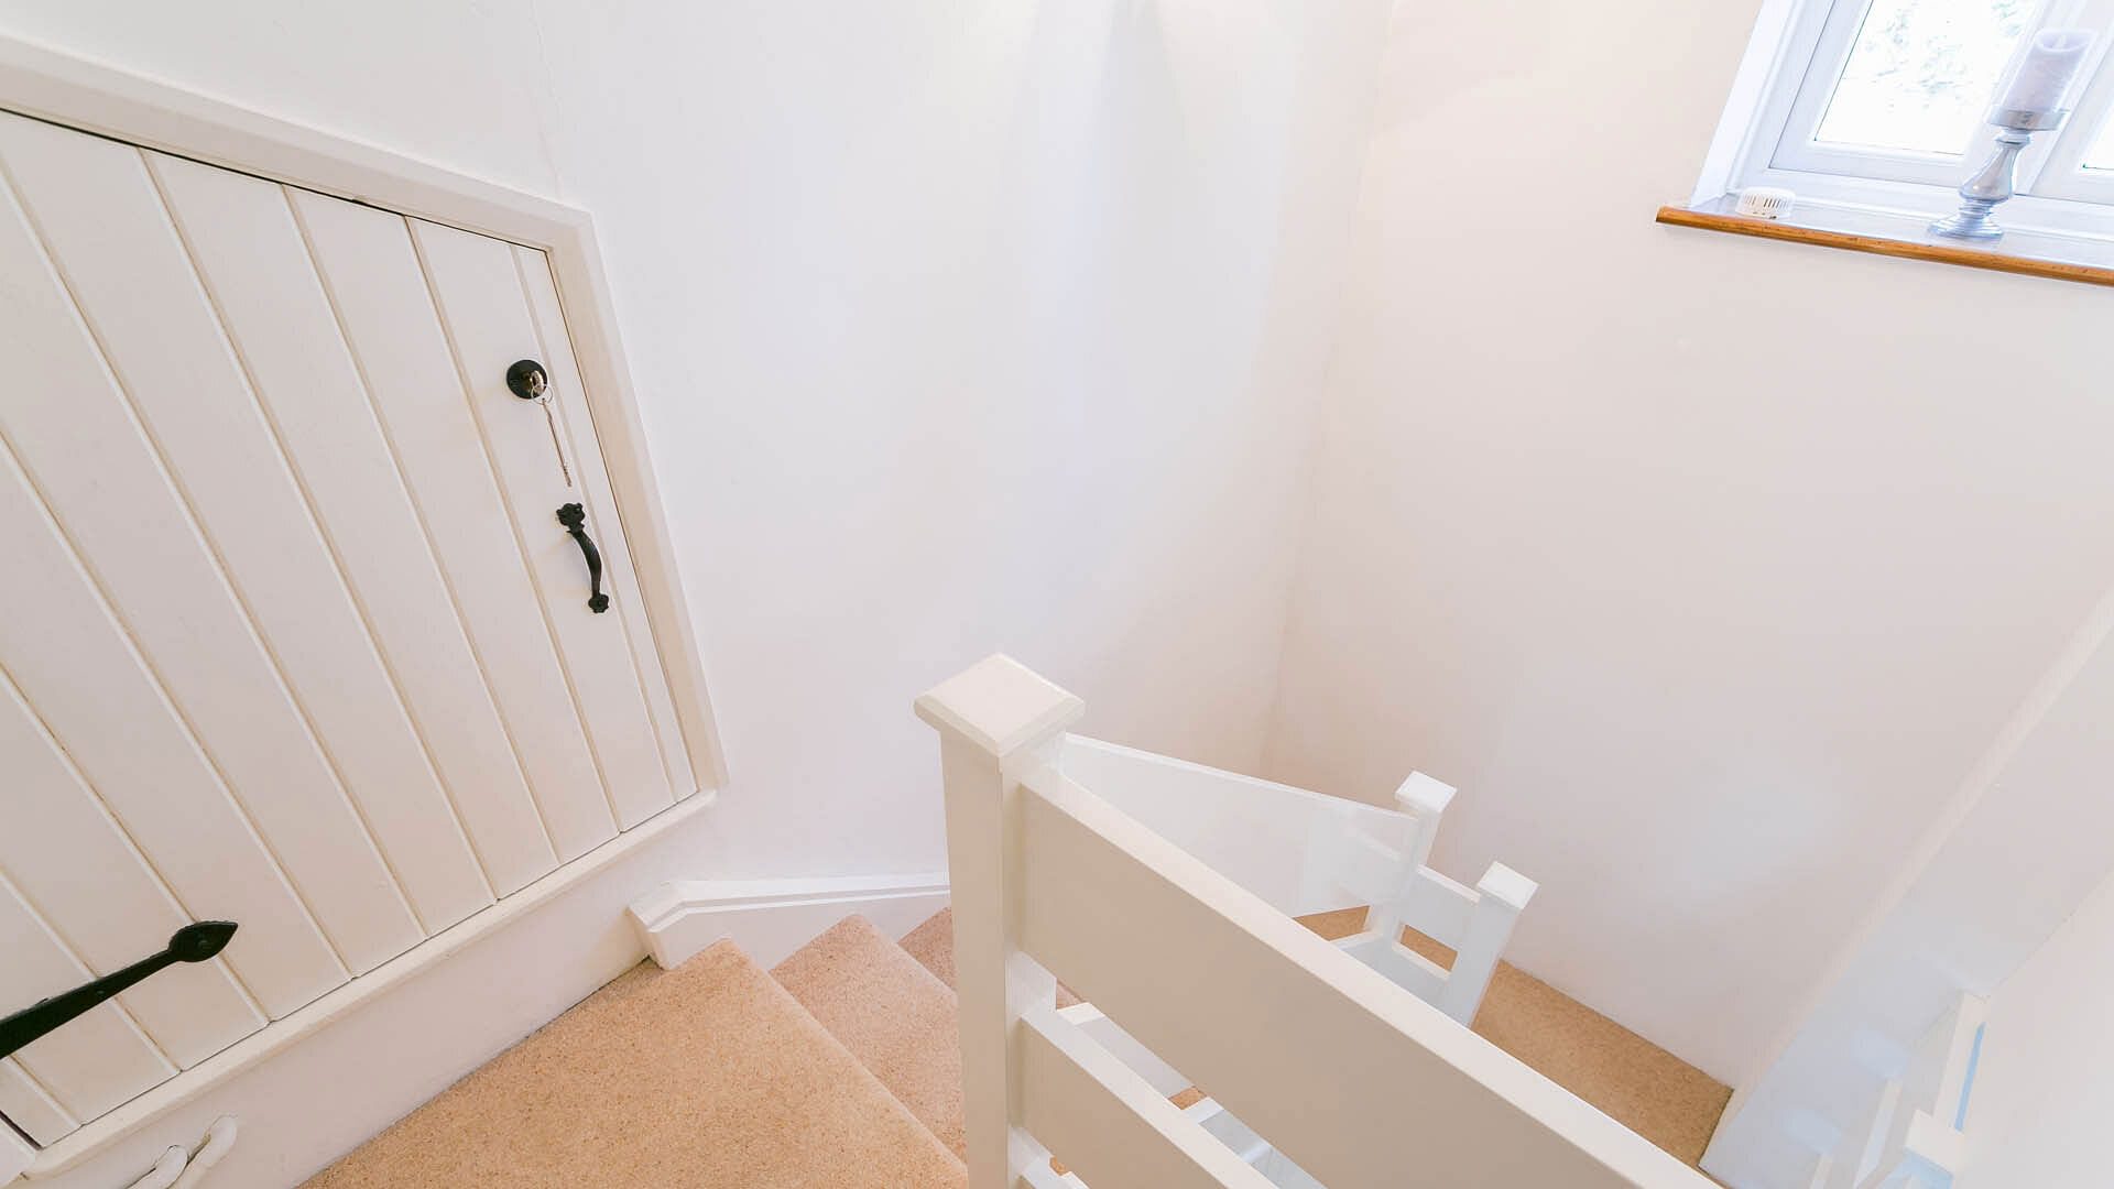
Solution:
M1875 256L1898 256L1903 260L1989 269L1994 273L2114 286L2114 243L2108 241L2015 231L1996 243L1972 245L1926 233L1924 224L1928 218L1924 216L1852 212L1846 207L1799 207L1788 218L1767 220L1731 214L1729 209L1712 209L1717 205L1729 205L1729 199L1719 199L1719 203L1704 207L1659 207L1657 222L1753 235L1759 239L1816 243L1848 252L1871 252ZM2103 262L2095 262L2099 258Z

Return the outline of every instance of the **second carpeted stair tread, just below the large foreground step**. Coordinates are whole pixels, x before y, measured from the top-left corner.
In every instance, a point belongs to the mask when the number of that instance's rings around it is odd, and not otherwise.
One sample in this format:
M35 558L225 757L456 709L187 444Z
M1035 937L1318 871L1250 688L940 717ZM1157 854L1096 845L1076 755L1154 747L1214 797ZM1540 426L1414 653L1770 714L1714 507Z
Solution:
M911 1115L962 1153L953 990L865 916L846 916L772 969Z

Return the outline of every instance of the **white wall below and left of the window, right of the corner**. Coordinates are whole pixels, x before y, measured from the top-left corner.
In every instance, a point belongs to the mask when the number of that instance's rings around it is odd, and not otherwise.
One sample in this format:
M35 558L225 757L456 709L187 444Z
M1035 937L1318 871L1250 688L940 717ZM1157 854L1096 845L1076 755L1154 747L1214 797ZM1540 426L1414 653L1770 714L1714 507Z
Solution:
M1651 222L1755 11L1402 6L1268 764L1736 1083L2114 578L2101 296Z

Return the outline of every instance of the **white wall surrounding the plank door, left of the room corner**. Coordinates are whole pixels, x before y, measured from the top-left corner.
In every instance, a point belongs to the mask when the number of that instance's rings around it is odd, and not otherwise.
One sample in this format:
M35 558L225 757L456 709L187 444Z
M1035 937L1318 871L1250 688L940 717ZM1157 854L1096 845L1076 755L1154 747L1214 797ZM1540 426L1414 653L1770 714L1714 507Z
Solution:
M1080 692L1097 734L1260 764L1385 19L13 0L0 34L594 212L731 766L651 865L539 914L535 954L607 977L636 954L611 906L668 874L941 867L911 698L998 647ZM505 1043L482 1024L520 1035L577 996L522 935L63 1189L243 1102L271 1119L216 1185L298 1178ZM478 1013L471 988L522 980ZM391 1011L480 1028L425 1045ZM393 1109L290 1106L383 1071Z

